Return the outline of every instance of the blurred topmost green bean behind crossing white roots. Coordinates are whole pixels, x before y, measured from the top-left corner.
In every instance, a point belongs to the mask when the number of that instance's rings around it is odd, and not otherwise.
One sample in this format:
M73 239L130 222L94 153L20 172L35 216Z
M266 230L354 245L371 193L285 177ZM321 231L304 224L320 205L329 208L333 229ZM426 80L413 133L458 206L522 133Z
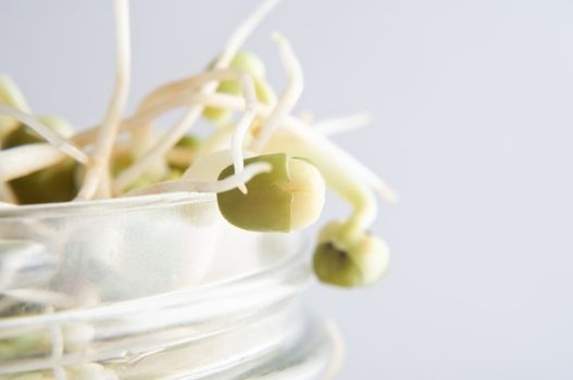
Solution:
M251 76L257 99L261 103L271 104L275 101L276 97L273 90L264 80L264 64L257 55L247 51L239 51L231 62L229 67L242 69ZM217 92L239 94L240 85L236 80L225 80L219 85ZM205 107L203 112L203 116L213 123L223 123L229 115L228 111L211 106Z

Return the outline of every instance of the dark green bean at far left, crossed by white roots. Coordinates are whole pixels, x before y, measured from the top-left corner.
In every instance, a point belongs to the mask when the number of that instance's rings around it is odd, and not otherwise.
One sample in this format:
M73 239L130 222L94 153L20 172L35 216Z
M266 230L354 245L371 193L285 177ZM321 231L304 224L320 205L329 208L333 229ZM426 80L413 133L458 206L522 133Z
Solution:
M68 137L71 134L70 125L60 117L50 116L40 118L40 121L62 137ZM45 142L45 140L34 130L20 125L5 136L2 148L8 149L35 142ZM73 159L64 157L53 166L11 180L9 187L20 204L68 202L77 192L77 167Z

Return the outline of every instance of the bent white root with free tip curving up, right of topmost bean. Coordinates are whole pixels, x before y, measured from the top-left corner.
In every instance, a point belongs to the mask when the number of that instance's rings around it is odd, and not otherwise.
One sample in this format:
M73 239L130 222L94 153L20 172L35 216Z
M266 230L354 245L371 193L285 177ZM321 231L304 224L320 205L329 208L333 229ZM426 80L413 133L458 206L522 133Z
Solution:
M258 136L251 142L250 149L254 152L261 151L269 141L272 134L279 127L286 115L292 111L299 100L304 87L302 67L298 58L295 55L288 40L281 34L273 34L273 39L278 43L281 60L288 77L288 85L278 98L273 112L261 127Z

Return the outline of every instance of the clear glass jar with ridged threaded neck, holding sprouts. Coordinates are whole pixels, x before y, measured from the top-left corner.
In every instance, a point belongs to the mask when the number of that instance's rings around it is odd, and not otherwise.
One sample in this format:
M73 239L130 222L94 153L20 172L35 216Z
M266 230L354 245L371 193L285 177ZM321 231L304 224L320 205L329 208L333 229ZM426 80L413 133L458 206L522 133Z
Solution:
M212 195L1 208L0 379L328 377L301 245Z

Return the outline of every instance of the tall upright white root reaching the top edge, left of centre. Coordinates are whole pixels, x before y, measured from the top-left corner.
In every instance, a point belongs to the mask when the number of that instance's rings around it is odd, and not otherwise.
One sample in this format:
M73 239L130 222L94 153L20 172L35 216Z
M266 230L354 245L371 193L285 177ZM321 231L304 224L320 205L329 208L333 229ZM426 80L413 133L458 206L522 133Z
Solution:
M92 155L87 165L82 189L76 200L90 200L101 186L102 177L109 176L110 159L122 121L123 110L127 103L129 87L129 4L128 0L115 0L116 23L116 73L113 93L105 114L103 124L98 134L98 140ZM109 189L103 189L109 193Z

